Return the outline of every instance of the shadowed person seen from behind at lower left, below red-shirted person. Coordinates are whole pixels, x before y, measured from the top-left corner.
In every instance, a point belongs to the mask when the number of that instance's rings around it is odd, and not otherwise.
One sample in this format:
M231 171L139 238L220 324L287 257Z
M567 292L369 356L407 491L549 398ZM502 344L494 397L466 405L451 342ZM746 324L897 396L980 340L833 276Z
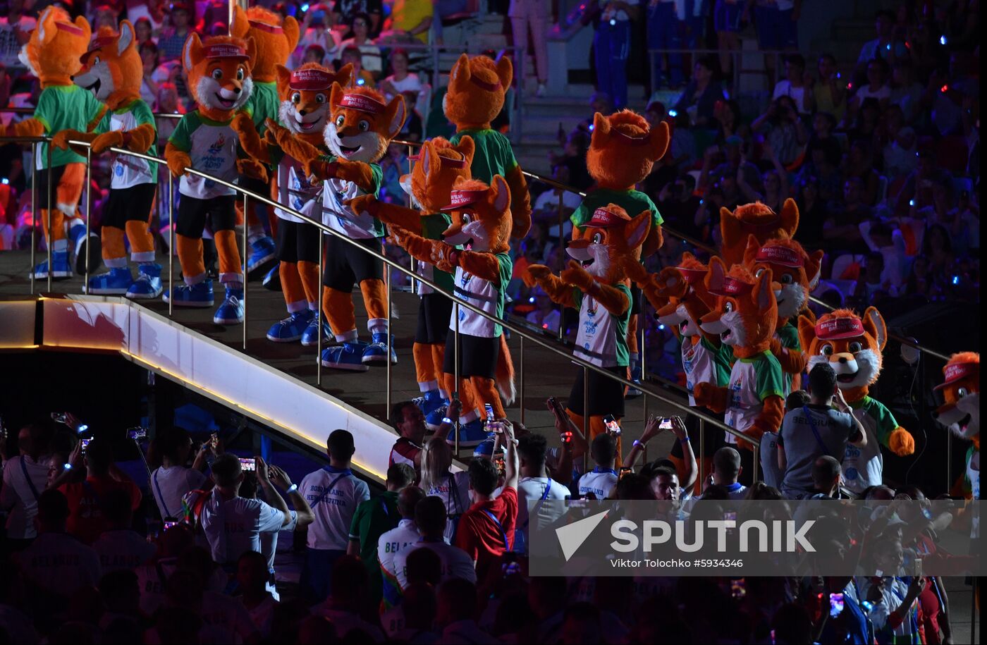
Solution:
M63 598L100 580L100 556L96 550L65 533L68 500L57 490L38 497L35 526L38 538L16 557L29 588Z

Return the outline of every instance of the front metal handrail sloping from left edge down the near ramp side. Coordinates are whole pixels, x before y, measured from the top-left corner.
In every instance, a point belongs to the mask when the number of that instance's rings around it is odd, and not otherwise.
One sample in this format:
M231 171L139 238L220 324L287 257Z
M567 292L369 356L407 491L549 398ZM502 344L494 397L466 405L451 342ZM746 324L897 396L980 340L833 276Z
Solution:
M48 142L48 143L50 143L50 139L51 139L50 137L33 137L33 138L25 137L23 139L18 139L18 140L0 138L0 141L6 141L6 142L9 142L9 143L15 143L15 142L30 142L30 143ZM74 145L74 146L81 146L81 147L86 147L86 148L90 147L90 144L88 142L85 142L85 141L74 141L74 140L71 140L68 143L70 145ZM48 146L48 149L50 150L50 148L51 148L51 146L49 145ZM111 152L114 152L114 153L119 154L119 155L127 155L127 156L131 156L131 157L136 157L138 159L144 159L146 161L153 161L153 162L157 162L157 163L160 163L160 164L165 164L166 166L168 164L167 160L162 159L160 157L155 157L153 155L147 155L147 154L144 154L144 153L137 153L137 152L133 152L132 150L126 150L124 148L112 147L109 150ZM643 384L635 384L635 383L633 383L632 381L630 381L630 380L628 380L626 378L619 377L619 376L617 376L617 375L615 375L615 374L613 374L611 372L606 371L605 369L603 369L601 367L598 367L596 365L593 365L592 363L590 363L588 361L585 361L585 360L583 360L583 359L581 359L581 358L579 358L577 356L573 356L573 355L571 355L571 354L569 354L567 352L564 352L561 349L559 349L554 344L554 342L550 342L548 340L545 340L545 339L539 337L538 334L531 333L527 329L524 329L521 325L518 325L518 324L515 324L515 323L511 323L509 321L505 321L503 319L496 318L495 316L492 316L491 314L488 314L487 312L483 311L479 307L476 307L476 306L470 304L469 302L466 302L463 299L459 298L458 296L455 295L454 292L446 291L445 289L443 289L441 286L439 286L438 284L436 284L432 280L430 280L428 278L424 278L424 277L422 277L422 276L420 276L420 275L418 275L416 273L413 273L410 269L405 268L404 266L402 266L401 264L399 264L395 260L390 259L389 257L385 256L383 253L378 252L378 251L372 251L372 250L366 249L365 247L360 246L357 241L351 240L350 238L348 238L348 237L342 235L341 233L333 230L332 228L330 228L329 226L327 226L326 224L324 224L321 221L314 220L314 219L310 218L308 215L306 215L304 213L301 213L301 212L299 212L299 211L297 211L297 210L295 210L295 209L293 209L293 208L291 208L291 207L289 207L289 206L287 206L285 204L281 204L279 202L273 201L272 199L270 199L270 198L268 198L268 197L266 197L264 195L255 193L252 190L248 190L246 188L243 188L243 187L237 185L236 183L232 183L232 182L227 181L225 179L219 179L219 178L216 178L216 177L212 177L210 175L207 175L205 173L202 173L201 171L196 171L196 170L191 169L191 168L190 169L187 169L186 172L188 174L193 175L193 176L196 176L196 177L201 177L203 179L210 179L210 180L215 181L215 182L217 182L217 183L219 183L221 185L224 185L224 186L226 186L228 188L232 188L236 192L239 192L239 193L244 194L245 197L250 197L251 199L256 199L256 200L258 200L258 201L260 201L262 203L265 203L265 204L267 204L269 206L273 206L273 207L276 207L276 208L278 208L278 209L280 209L280 210L282 210L284 212L290 213L291 215L293 215L295 217L298 217L301 220L307 222L308 224L311 224L312 226L316 227L317 229L319 229L323 233L328 234L328 235L331 235L331 236L335 236L337 239L342 240L346 244L351 245L353 247L356 247L360 251L363 251L365 253L369 253L375 259L384 262L384 264L386 264L386 265L388 265L388 266L390 266L392 268L398 269L400 272L404 273L405 275L407 275L408 277L410 277L412 279L418 280L422 284L424 284L424 285L430 287L431 289L433 289L436 293L441 293L441 294L445 295L447 298L452 299L452 301L454 303L456 303L456 306L457 307L463 307L463 308L465 308L465 309L473 312L474 314L477 314L477 315L481 316L482 318L485 318L487 320L493 321L494 323L497 323L497 324L501 325L504 329L509 330L511 333L516 333L518 336L520 336L523 339L530 340L531 342L534 342L535 344L540 345L541 347L543 347L545 349L548 349L549 351L551 351L551 352L553 352L555 354L558 354L560 356L565 357L566 359L568 359L572 363L574 363L574 364L582 367L584 371L585 370L591 370L591 371L596 372L597 374L599 374L599 375L601 375L601 376L603 376L605 378L608 378L608 379L617 381L617 382L621 383L622 385L624 385L625 387L638 388L639 390L642 390L645 394L654 396L658 400L660 400L660 401L662 401L662 402L664 402L666 404L669 404L669 405L671 405L671 406L673 406L673 407L675 407L675 408L677 408L679 410L682 410L685 413L693 414L693 415L697 416L699 419L701 419L702 421L704 421L705 423L712 424L714 427L720 428L724 432L726 432L726 433L728 433L728 434L730 434L730 435L732 435L732 436L734 436L734 437L736 437L738 439L742 439L743 441L746 441L748 443L751 443L751 444L753 444L755 446L759 446L760 445L760 442L759 441L757 441L757 440L755 440L755 439L753 439L751 437L748 437L748 436L744 435L742 432L739 432L739 431L737 431L737 430L729 427L728 425L726 425L725 423L723 423L720 419L717 419L714 416L711 416L711 415L709 415L709 414L707 414L705 412L702 412L700 410L697 410L696 408L692 408L688 404L682 403L682 402L680 402L678 400L675 400L674 398L668 397L668 396L664 395L663 393L661 393L661 392L659 392L657 390L654 390L654 389L652 389L650 387L645 387ZM320 258L320 262L321 261L322 261L322 258ZM50 271L49 271L49 275L50 275ZM169 281L171 282L172 280L173 280L173 273L170 272ZM171 286L172 285L170 285L170 287ZM245 280L244 281L244 294L245 294L244 299L245 300L246 300L246 288L247 288L247 282ZM390 292L388 292L388 299L390 299ZM390 305L390 302L388 304ZM390 312L391 312L391 308L389 306L388 307L388 316L390 316ZM458 317L457 317L457 321L458 321ZM324 324L324 323L322 322L321 317L320 317L320 325L322 325L322 324ZM245 325L245 328L246 328L246 319L244 321L244 325ZM388 325L388 326L390 327L390 325ZM322 338L322 329L320 328L319 331L320 331L319 338L321 339ZM456 334L458 336L458 334L459 334L458 325L457 325L457 329L455 331L456 331ZM389 330L388 330L388 343L389 344L390 344L390 335L391 334L390 334L390 328L389 328ZM457 342L457 343L455 343L455 345L458 348L459 343ZM387 351L387 363L388 364L390 363L390 347L388 347L388 351ZM456 364L457 364L457 372L458 372L458 361L456 361ZM459 385L458 374L456 375L456 377L457 377L456 378L456 385L458 387L458 385ZM584 385L586 387L588 387L588 379L585 378L585 375L584 375L584 378L583 378L583 383L584 383ZM388 390L390 391L390 384L388 386ZM584 400L584 403L585 403L585 400ZM457 433L457 437L458 437L458 433ZM458 448L458 446L457 446L457 448Z

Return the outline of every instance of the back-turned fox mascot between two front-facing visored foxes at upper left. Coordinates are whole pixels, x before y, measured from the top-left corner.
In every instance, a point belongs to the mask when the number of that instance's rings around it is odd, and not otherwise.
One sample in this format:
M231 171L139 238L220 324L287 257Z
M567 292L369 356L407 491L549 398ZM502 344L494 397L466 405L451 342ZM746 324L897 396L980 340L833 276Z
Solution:
M263 7L251 7L245 11L240 5L235 5L230 36L244 40L254 39L257 49L251 68L254 91L247 102L246 111L251 115L258 132L264 134L266 120L277 120L281 102L284 101L276 87L277 67L287 64L288 57L298 44L298 22L291 16L282 21L279 15ZM241 177L240 182L255 192L266 193L266 181L246 176ZM247 241L251 247L247 258L249 276L266 271L271 260L275 259L274 242L266 234L264 224L257 216L258 208L262 211L267 209L266 206L258 205L249 208L247 212ZM271 222L271 228L275 228L274 222ZM279 267L275 264L274 268Z

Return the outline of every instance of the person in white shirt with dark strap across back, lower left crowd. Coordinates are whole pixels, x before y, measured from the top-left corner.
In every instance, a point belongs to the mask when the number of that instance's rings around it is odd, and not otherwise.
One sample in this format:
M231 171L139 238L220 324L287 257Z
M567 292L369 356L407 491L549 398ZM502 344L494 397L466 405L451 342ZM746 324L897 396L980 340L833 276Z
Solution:
M162 519L178 520L182 517L182 498L190 490L207 489L208 477L203 474L206 458L215 454L211 442L204 442L195 454L191 467L186 466L191 452L191 437L184 428L173 428L167 434L156 437L150 457L161 459L161 466L151 473L151 493L158 504Z

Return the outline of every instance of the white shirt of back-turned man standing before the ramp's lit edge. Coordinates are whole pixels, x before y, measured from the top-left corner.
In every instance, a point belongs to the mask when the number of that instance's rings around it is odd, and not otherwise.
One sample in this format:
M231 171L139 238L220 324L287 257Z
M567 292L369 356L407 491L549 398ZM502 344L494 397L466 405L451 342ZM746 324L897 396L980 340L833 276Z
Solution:
M353 513L360 502L370 499L366 482L348 469L326 466L305 475L298 492L315 514L315 522L308 528L308 547L346 550Z

